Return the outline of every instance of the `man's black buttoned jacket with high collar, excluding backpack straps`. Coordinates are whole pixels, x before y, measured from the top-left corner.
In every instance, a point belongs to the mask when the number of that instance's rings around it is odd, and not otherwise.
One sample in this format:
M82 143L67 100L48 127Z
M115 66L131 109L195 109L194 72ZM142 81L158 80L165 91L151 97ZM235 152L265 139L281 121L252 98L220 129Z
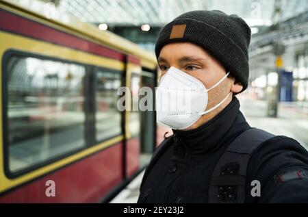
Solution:
M216 162L227 146L248 129L251 127L234 97L205 125L190 131L174 130L164 153L146 169L138 203L208 203ZM301 173L300 178L294 173ZM303 146L292 138L275 136L251 157L247 183L260 181L261 196L251 196L253 187L247 185L246 203L308 203L307 175L308 153Z

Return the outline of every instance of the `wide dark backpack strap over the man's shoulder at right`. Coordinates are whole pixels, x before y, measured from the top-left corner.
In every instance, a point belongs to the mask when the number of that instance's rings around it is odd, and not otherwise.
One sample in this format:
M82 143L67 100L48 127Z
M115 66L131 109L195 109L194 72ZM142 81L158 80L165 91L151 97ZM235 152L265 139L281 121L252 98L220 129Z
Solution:
M251 155L274 135L252 128L241 133L227 147L214 168L209 183L209 203L244 203L246 173Z

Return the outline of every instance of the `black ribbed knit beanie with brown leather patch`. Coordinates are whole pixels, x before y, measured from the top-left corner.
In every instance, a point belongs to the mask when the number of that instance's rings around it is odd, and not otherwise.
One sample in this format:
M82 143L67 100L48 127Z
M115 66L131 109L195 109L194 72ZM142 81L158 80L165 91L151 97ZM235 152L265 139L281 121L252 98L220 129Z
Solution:
M192 42L203 47L230 71L244 91L248 86L248 47L251 29L237 15L213 10L194 10L178 16L158 34L155 54L158 58L170 42Z

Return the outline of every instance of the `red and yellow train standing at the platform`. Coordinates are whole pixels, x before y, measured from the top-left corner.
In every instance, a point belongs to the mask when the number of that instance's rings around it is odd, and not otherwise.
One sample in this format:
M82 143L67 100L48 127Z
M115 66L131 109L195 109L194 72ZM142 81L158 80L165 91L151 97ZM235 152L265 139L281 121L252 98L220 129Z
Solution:
M0 1L0 70L0 203L106 202L163 139L155 112L116 107L157 64L115 34Z

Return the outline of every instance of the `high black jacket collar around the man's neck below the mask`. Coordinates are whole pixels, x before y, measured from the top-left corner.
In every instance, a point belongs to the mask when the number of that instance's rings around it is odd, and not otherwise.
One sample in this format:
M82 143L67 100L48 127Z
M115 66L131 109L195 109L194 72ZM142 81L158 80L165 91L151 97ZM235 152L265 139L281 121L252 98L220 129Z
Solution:
M175 134L174 153L178 157L198 157L220 149L231 138L249 127L242 113L240 102L233 97L218 115L204 125L190 131L172 130Z

